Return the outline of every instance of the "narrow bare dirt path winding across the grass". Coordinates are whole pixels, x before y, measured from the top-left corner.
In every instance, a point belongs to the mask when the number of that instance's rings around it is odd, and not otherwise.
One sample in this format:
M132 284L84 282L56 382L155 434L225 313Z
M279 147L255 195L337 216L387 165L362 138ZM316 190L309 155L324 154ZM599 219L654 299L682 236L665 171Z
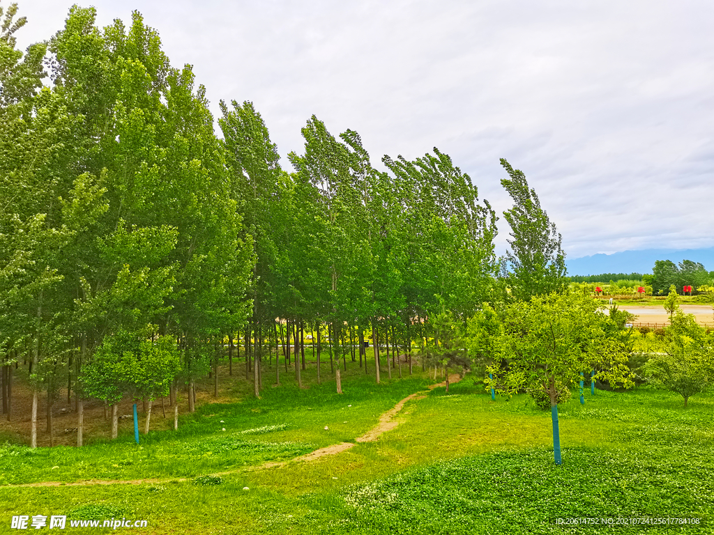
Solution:
M461 376L459 374L449 375L449 382L451 384L459 382ZM430 384L428 386L429 390L433 390L439 387L446 387L446 381L442 381L437 384ZM400 402L398 402L394 407L389 409L387 412L383 413L379 417L379 422L375 427L370 429L368 432L363 434L361 437L357 437L355 442L341 442L340 444L332 444L324 448L316 449L314 452L310 452L301 457L296 457L295 459L290 459L288 461L281 462L266 462L263 464L258 464L256 467L241 468L239 470L231 470L228 472L216 472L212 475L216 476L227 476L229 474L236 474L238 472L254 472L256 470L265 470L268 468L283 467L290 462L312 462L321 457L326 457L328 455L336 455L338 453L346 452L348 449L353 447L356 442L374 442L376 439L381 437L382 434L391 431L399 425L399 421L395 419L396 415L403 409L404 404L411 400L423 399L426 397L426 391L414 392L408 395ZM157 484L157 483L167 483L169 481L188 481L187 477L172 477L169 479L124 479L116 481L106 481L101 479L90 479L89 481L76 481L74 483L61 483L59 481L41 481L39 483L24 483L19 485L9 485L9 486L89 486L89 485L141 485L141 484Z

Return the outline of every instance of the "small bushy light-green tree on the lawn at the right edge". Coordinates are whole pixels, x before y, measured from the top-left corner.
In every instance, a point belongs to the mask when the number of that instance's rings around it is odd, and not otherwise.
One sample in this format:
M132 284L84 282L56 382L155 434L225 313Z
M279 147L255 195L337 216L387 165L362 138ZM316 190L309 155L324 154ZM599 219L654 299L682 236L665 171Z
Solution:
M665 330L663 352L645 363L650 384L688 399L714 383L714 341L694 316L677 310Z

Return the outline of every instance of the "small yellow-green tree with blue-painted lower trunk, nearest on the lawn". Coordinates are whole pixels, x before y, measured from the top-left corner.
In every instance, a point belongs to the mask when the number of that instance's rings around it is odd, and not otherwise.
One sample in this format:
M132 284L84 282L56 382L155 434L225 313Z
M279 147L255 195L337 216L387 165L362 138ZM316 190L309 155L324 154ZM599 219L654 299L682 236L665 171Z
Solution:
M621 342L605 335L600 306L577 294L550 294L508 305L503 334L496 342L497 354L506 358L488 368L495 377L486 378L486 385L498 392L531 389L548 395L555 464L561 464L558 396L562 388L578 382L580 372L593 367L611 385L632 384L627 351Z

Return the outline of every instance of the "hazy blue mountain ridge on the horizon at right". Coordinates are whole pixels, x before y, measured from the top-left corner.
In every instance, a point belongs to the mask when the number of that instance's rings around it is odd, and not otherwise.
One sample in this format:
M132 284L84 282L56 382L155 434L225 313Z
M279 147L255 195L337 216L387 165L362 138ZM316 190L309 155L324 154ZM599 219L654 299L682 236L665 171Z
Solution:
M565 257L568 275L599 275L600 273L651 273L655 260L692 260L714 270L714 247L708 249L643 249L622 251L612 255L592 255L583 258Z

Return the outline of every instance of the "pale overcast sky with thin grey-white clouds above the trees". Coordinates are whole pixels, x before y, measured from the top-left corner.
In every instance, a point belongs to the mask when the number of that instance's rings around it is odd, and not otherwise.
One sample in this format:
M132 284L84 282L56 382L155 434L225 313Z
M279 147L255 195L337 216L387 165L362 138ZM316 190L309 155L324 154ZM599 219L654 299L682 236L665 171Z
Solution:
M71 4L16 0L18 45ZM0 5L7 6L7 0ZM211 111L252 101L283 156L313 114L360 133L373 165L437 147L510 229L506 158L567 258L714 245L714 2L709 0L94 0L97 24L136 9ZM216 126L216 131L219 129Z

